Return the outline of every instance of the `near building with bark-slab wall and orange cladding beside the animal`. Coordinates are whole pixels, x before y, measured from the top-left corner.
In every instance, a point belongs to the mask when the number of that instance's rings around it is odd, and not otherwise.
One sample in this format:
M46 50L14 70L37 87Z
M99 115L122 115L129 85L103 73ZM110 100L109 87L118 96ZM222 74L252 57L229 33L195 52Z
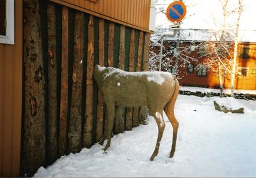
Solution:
M0 4L0 177L29 177L100 140L107 111L93 66L148 70L154 1ZM145 114L119 108L114 133Z

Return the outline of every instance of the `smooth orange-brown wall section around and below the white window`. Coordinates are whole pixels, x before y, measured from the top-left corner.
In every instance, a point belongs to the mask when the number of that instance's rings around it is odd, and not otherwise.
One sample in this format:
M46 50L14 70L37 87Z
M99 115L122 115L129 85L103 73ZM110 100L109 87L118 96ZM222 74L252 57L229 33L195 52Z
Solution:
M22 1L15 1L15 45L0 44L0 177L19 177L22 107Z

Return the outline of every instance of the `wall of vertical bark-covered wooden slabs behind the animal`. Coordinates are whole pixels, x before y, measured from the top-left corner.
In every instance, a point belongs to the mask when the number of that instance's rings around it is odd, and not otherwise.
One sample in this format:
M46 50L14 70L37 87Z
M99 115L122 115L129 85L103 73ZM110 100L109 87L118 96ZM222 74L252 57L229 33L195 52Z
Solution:
M93 66L148 70L149 33L49 1L24 0L21 176L99 142L106 107ZM145 108L118 108L114 133Z

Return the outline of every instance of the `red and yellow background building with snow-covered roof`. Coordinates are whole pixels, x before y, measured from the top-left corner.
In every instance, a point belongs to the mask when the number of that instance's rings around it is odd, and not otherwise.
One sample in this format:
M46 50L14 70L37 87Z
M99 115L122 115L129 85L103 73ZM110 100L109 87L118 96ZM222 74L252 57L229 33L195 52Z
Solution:
M247 31L247 34L244 34L243 32L243 36L241 36L241 41L238 46L238 72L234 84L235 89L256 89L256 31L249 32ZM163 63L170 63L169 71L172 71L173 66L175 65L174 54L170 51L173 51L173 48L176 45L176 40L177 36L164 39L163 54L167 54L168 52L169 54L163 57ZM180 41L180 52L182 52L182 57L186 58L186 61L188 61L185 62L185 64L184 61L179 61L178 75L180 85L220 88L220 81L218 73L216 72L217 69L212 71L207 68L204 61L209 57L200 55L200 48L198 48L199 45L202 45L207 41L212 41L212 43L214 43L214 38L204 30L184 29L181 30ZM159 54L159 48L159 43L155 42L154 45L152 45L152 50L156 54ZM172 60L166 62L167 58ZM158 64L156 64L156 66L158 66ZM166 69L162 68L162 70ZM230 89L230 77L227 77L226 75L223 75L223 87L225 89Z

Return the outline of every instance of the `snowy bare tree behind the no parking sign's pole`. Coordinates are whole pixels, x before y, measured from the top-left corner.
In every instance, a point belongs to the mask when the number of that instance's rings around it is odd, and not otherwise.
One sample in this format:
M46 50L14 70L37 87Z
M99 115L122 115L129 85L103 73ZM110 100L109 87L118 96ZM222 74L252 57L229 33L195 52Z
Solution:
M182 1L182 0L181 0ZM183 1L186 3L187 8L190 8L192 6L195 6L195 3ZM190 3L190 4L188 4ZM157 13L166 13L166 5L170 4L170 1L157 1ZM191 14L194 15L194 14ZM188 15L185 19L191 17L191 15ZM171 23L170 23L171 24ZM182 23L180 23L182 24ZM162 26L156 27L156 31L154 34L151 36L151 41L152 43L150 44L150 60L149 60L149 69L151 71L157 70L159 68L159 53L157 52L157 47L160 47L160 43L157 41L160 40L161 34L169 31L168 28L164 28ZM183 45L180 45L182 43L182 29L177 29L177 38L175 40L169 39L169 44L167 45L168 47L163 49L163 61L162 61L162 66L161 69L165 71L170 71L174 75L179 75L178 73L178 67L188 67L188 65L191 63L191 60L196 61L197 59L193 57L189 57L189 47L186 46L184 47ZM167 40L166 40L167 41ZM166 44L165 41L165 44ZM191 60L189 60L191 59ZM179 66L180 61L182 62L182 65ZM179 76L178 76L179 77Z

